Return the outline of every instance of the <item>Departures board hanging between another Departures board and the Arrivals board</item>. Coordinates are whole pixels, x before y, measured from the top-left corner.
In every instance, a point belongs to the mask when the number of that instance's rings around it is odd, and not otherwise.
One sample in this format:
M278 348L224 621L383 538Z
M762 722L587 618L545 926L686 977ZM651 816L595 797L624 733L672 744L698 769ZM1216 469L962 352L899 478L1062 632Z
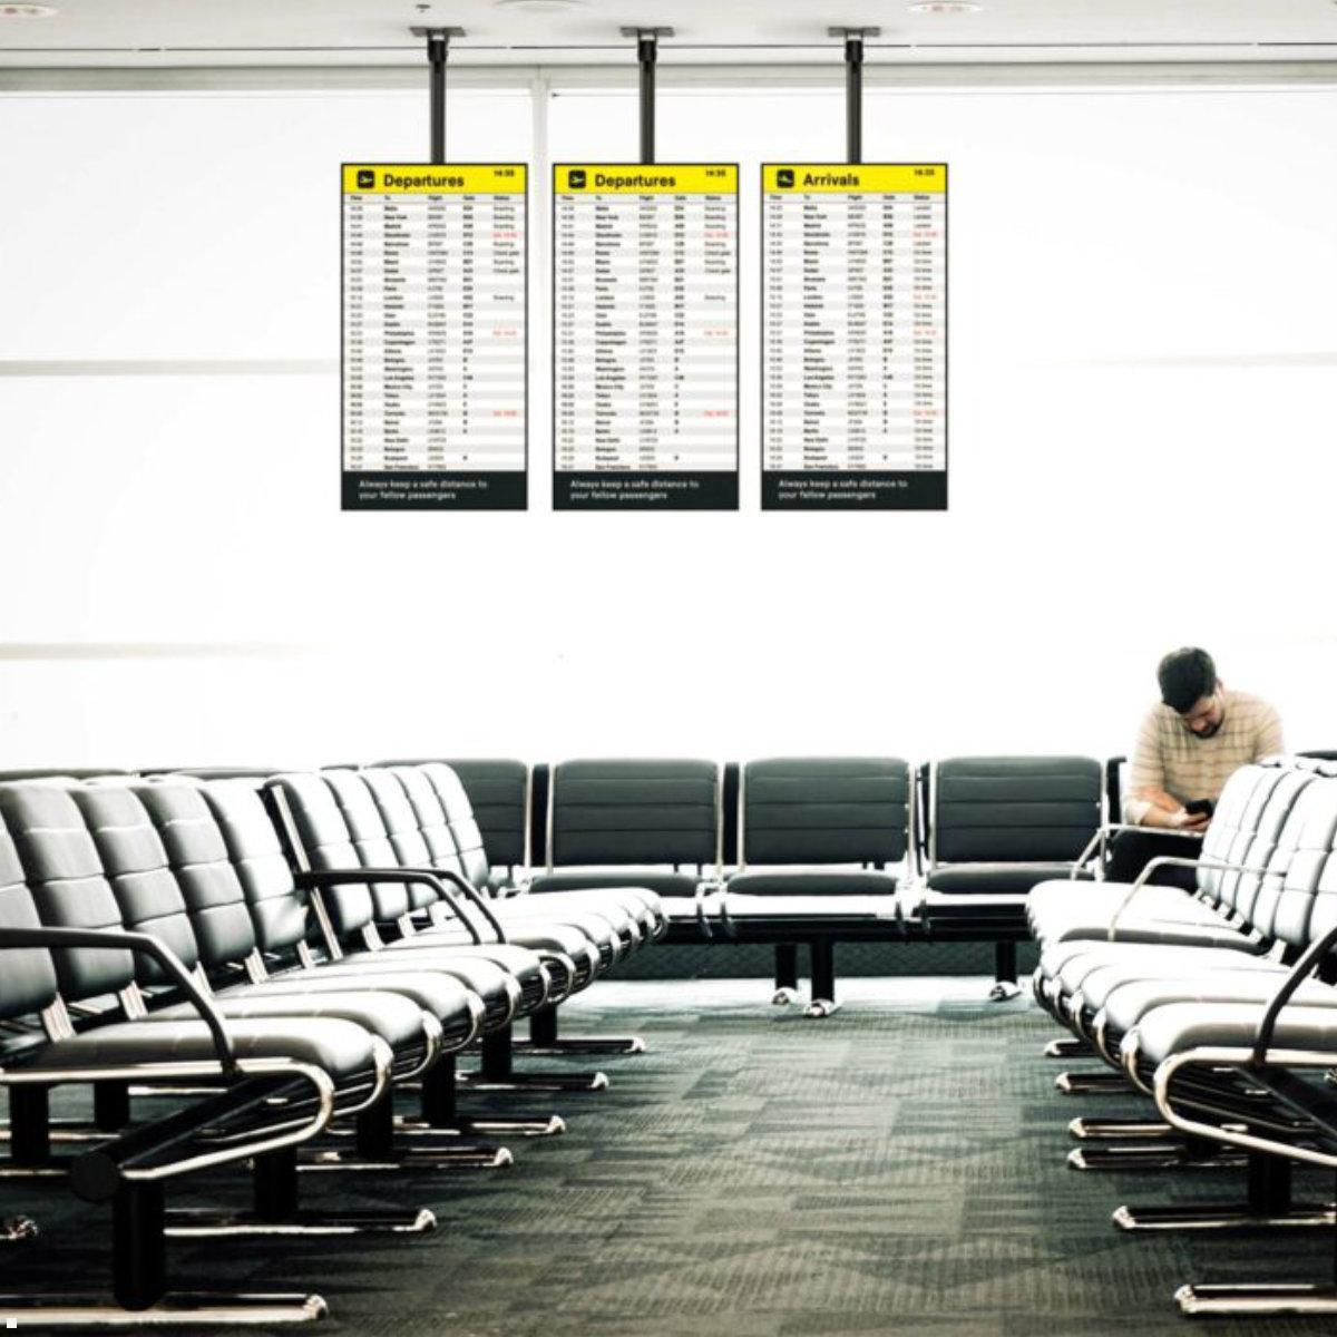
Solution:
M552 505L738 505L738 167L554 168Z

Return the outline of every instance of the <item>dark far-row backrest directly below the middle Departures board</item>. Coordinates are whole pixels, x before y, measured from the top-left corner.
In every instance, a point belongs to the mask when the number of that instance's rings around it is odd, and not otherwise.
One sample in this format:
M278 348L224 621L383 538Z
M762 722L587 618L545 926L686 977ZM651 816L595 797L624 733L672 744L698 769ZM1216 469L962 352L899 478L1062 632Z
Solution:
M554 868L719 860L719 767L711 761L564 761L548 792Z

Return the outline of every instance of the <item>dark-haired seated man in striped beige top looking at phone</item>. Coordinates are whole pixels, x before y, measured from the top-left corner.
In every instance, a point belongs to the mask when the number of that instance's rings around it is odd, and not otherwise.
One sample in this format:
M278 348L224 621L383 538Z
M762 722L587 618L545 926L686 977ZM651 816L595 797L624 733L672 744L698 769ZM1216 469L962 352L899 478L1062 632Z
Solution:
M1206 650L1171 651L1157 668L1161 705L1138 730L1123 797L1123 820L1143 832L1120 832L1106 876L1131 882L1161 854L1191 858L1195 842L1155 836L1155 829L1203 832L1211 804L1231 771L1282 750L1281 718L1265 701L1231 691ZM1154 882L1193 888L1191 869L1166 868Z

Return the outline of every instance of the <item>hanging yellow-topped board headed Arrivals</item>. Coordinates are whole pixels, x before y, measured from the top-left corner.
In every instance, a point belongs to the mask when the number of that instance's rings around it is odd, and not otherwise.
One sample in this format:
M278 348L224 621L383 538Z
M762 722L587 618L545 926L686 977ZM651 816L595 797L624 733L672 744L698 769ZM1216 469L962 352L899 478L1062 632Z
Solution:
M762 508L945 507L945 164L763 164Z

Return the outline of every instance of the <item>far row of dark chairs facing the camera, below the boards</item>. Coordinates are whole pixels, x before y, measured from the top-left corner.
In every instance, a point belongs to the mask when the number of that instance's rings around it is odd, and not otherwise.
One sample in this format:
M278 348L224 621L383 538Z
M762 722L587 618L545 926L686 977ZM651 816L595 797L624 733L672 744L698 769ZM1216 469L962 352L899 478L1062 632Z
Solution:
M1107 816L1088 757L452 762L531 890L655 890L670 943L766 943L775 997L812 961L809 1012L836 1005L836 944L989 941L1016 991L1025 893L1067 873Z

